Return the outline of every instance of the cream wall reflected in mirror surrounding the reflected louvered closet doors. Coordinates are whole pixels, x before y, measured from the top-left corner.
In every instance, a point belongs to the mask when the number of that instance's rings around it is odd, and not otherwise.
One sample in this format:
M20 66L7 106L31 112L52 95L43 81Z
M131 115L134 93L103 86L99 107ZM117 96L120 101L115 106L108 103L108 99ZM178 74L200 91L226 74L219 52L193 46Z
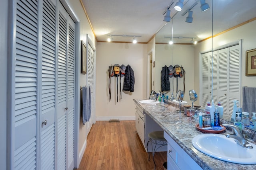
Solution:
M248 87L256 87L256 76L245 76L245 61L246 61L246 51L250 49L256 49L256 34L255 34L255 27L256 27L256 20L247 23L245 25L242 25L240 27L237 27L235 29L232 29L231 31L228 31L226 33L223 33L221 35L218 35L217 37L213 38L213 48L220 47L225 44L233 43L236 41L239 41L242 39L242 56L241 56L241 88L242 86L248 86ZM207 41L203 41L202 43L198 43L195 49L195 90L199 91L199 77L196 76L199 74L199 66L200 66L200 60L199 60L199 53L200 51L208 51L212 47L212 40L208 39ZM241 89L242 91L242 89ZM242 103L242 101L240 102Z

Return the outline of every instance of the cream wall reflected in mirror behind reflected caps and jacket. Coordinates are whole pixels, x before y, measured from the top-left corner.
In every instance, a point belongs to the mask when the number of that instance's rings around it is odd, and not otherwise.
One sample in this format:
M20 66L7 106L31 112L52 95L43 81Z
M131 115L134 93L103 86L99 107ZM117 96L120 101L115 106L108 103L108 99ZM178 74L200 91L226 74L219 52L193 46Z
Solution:
M173 56L173 57L172 57ZM185 70L185 92L184 101L190 102L188 91L194 89L194 45L169 45L169 44L156 44L156 92L161 90L161 70L165 65L183 66ZM170 92L168 96L172 94L172 78L170 80ZM173 78L174 90L173 94L176 96L176 78ZM183 90L183 77L178 78L178 90Z

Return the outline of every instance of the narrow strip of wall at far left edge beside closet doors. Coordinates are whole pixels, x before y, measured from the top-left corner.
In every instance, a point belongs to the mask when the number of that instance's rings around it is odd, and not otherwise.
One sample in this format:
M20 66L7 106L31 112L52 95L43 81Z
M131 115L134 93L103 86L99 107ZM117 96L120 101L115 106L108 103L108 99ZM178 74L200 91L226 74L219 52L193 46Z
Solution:
M7 36L8 36L8 0L2 0L0 6L0 167L6 169L6 100L7 100ZM4 16L4 17L3 17Z

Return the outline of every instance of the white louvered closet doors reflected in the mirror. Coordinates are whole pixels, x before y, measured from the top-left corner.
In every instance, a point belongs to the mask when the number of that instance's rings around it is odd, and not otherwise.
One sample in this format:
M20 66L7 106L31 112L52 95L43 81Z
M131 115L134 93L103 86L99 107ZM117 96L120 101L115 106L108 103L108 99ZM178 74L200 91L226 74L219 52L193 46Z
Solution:
M226 47L213 52L202 54L202 106L206 105L206 100L211 96L207 95L207 88L213 87L214 104L221 102L224 115L231 115L233 109L233 100L240 101L241 93L241 61L240 45ZM209 55L208 55L209 54ZM207 57L209 57L207 59ZM209 66L207 66L209 60ZM211 61L212 60L212 61ZM212 67L213 63L213 69ZM209 68L209 69L208 69ZM208 70L210 70L208 78ZM211 75L213 76L213 86L211 84ZM209 82L208 82L209 81ZM210 86L207 85L207 82ZM209 97L207 99L207 97Z

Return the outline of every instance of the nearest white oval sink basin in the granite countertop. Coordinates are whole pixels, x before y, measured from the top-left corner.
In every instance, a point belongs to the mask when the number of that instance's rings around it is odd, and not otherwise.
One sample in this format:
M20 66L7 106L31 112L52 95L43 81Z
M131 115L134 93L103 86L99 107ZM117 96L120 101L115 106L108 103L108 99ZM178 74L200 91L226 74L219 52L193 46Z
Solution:
M256 164L256 145L250 143L253 149L238 145L233 138L220 134L197 135L192 139L192 145L199 151L216 159L237 164Z

